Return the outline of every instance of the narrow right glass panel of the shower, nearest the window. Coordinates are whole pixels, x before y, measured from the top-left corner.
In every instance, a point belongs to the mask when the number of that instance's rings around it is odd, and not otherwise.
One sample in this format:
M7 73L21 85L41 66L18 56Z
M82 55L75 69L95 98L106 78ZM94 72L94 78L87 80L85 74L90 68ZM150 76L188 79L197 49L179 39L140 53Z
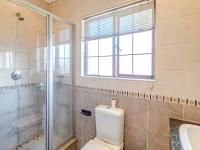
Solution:
M53 74L53 149L58 149L73 135L72 130L72 27L56 19L53 33L58 58ZM67 58L67 59L66 59Z

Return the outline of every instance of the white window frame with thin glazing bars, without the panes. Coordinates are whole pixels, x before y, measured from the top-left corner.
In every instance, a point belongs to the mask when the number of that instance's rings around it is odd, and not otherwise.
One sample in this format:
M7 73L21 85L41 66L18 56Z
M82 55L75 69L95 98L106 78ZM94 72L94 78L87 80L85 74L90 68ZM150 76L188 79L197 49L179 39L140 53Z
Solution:
M120 72L119 72L119 65L120 65L120 63L119 63L119 57L120 57L120 54L119 54L119 50L120 50L119 49L119 37L122 34L119 34L118 32L115 33L116 31L119 31L119 29L118 29L119 28L119 19L116 16L114 16L114 18L113 18L114 35L109 36L109 37L104 37L104 38L112 38L112 41L113 41L112 42L112 75L111 76L105 76L105 75L100 75L99 74L99 58L100 57L111 57L111 55L99 56L99 40L103 39L103 38L96 38L95 40L98 40L98 56L90 56L90 57L88 57L88 55L87 55L88 54L88 41L90 41L90 40L84 41L84 56L83 56L84 67L81 68L81 69L83 69L83 74L81 74L83 77L98 77L98 78L104 78L105 77L105 78L116 78L116 79L132 79L132 80L134 80L134 79L135 80L155 80L155 19L156 19L156 16L155 16L155 12L156 12L155 4L156 4L156 1L152 0L152 2L153 2L153 7L152 7L152 28L147 29L147 30L134 32L134 33L129 33L129 34L132 34L132 41L133 41L133 35L134 34L141 33L141 32L146 32L146 31L152 31L152 50L151 50L151 53L134 54L133 53L133 46L134 45L132 44L132 54L125 54L124 55L124 56L131 55L133 57L134 55L151 54L151 73L152 74L151 75L136 75L136 74L133 73L133 66L132 66L132 74L120 74ZM134 5L135 5L135 3L127 4L127 5L118 7L118 8L114 8L114 10L121 11L120 9L126 9L126 7L128 7L128 6L134 6ZM107 16L106 14L112 13L111 11L112 10L108 10L108 11L100 12L100 13L97 13L97 14L94 14L94 15L91 15L91 16L95 17L95 18L98 18L99 16ZM89 19L89 18L90 18L90 16L86 17L86 19ZM85 26L85 22L84 22L84 20L86 20L86 19L85 18L82 19L82 30L83 30L82 34L83 35L85 34L85 31L86 31L86 26ZM124 35L128 35L128 34L124 34ZM92 39L92 40L94 40L94 39ZM87 61L87 59L91 58L91 57L98 57L98 74L88 74L88 61ZM81 59L82 59L82 57L81 57ZM132 58L132 65L133 65L133 58Z

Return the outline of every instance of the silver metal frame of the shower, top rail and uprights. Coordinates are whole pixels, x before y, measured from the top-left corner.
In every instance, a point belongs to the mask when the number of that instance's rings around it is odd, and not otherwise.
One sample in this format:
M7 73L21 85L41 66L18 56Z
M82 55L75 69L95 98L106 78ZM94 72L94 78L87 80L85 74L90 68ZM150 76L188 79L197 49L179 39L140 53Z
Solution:
M45 148L46 150L53 150L53 19L59 20L63 23L66 23L72 28L72 46L71 46L71 75L72 75L72 100L73 100L73 91L75 85L75 70L74 70L74 40L75 40L75 24L71 21L64 19L62 17L56 16L53 13L40 8L34 4L26 2L24 0L8 0L18 6L32 10L38 14L46 16L46 29L47 29L47 93L46 93L46 132L45 132Z

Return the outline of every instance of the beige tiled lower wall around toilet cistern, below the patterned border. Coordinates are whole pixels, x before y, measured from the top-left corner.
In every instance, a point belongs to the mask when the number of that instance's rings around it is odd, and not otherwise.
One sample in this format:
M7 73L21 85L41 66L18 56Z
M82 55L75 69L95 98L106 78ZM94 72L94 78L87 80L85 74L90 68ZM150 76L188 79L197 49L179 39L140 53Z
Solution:
M169 150L169 118L200 123L200 108L189 100L149 96L144 94L99 92L87 88L75 89L74 133L79 149L95 136L94 108L110 105L115 98L118 107L125 110L125 150ZM81 109L92 111L91 117L81 115Z

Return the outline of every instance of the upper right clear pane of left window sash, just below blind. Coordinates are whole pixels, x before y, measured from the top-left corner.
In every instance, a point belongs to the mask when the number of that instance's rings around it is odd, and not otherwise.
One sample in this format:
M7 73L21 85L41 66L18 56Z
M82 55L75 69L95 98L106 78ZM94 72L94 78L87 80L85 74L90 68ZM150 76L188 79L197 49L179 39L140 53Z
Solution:
M112 37L99 40L99 56L112 55L112 50L113 50Z

